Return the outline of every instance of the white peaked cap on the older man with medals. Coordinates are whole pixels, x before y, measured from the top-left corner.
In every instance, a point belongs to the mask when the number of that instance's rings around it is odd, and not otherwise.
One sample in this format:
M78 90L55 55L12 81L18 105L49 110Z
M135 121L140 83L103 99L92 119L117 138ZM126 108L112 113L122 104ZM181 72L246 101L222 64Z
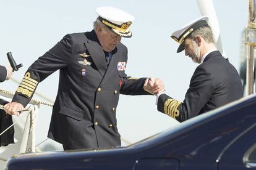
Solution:
M96 13L109 30L122 37L130 38L132 36L129 26L135 20L134 16L116 7L98 7Z

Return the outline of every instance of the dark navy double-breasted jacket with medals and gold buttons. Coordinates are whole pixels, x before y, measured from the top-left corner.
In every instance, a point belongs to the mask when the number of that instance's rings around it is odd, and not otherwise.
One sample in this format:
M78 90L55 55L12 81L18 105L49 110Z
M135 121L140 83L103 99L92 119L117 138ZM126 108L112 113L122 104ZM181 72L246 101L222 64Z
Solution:
M20 83L13 102L25 107L38 83L59 70L48 137L70 148L116 147L119 94L149 94L146 78L126 75L127 47L116 46L109 65L95 31L67 34L36 60Z

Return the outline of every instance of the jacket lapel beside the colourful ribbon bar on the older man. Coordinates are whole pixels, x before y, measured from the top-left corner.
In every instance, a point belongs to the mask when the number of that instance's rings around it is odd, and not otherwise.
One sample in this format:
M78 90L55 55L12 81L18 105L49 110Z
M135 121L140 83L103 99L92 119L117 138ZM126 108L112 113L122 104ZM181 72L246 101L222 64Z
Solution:
M111 75L113 75L113 72L115 70L117 70L117 63L120 59L120 56L121 56L121 51L119 50L118 47L116 47L116 52L112 55L112 58L111 58L110 63L108 65L108 70L106 71L106 74L105 74L103 80L101 81L101 85L105 84L106 81L108 81L108 78Z

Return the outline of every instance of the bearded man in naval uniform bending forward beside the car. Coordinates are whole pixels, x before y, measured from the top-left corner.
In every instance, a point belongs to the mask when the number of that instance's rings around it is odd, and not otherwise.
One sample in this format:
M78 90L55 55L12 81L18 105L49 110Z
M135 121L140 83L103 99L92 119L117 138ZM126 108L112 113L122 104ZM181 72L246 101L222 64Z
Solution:
M185 55L189 55L194 62L200 64L190 79L189 89L183 102L166 94L156 95L158 111L179 122L242 97L239 74L216 49L207 21L207 16L200 17L175 31L171 36L179 43L177 52L185 49Z

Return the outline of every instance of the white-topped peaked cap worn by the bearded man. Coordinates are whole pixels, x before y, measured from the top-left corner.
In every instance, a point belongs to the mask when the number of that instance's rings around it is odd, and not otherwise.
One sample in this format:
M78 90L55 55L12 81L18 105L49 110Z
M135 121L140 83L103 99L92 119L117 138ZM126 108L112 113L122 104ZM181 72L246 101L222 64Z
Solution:
M182 52L184 50L183 43L185 39L189 36L189 34L191 34L193 31L197 30L202 26L208 26L208 19L209 18L207 16L203 16L195 20L192 20L192 22L189 22L187 25L183 26L181 29L177 31L174 31L171 34L171 38L173 38L175 41L179 43L177 53Z

